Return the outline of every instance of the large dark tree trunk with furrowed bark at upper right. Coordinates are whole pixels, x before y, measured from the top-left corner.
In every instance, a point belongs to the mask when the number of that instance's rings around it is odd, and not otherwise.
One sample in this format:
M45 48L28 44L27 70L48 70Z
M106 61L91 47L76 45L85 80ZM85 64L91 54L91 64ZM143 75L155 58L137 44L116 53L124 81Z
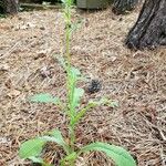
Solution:
M166 0L146 0L138 20L129 31L129 49L154 49L166 45Z

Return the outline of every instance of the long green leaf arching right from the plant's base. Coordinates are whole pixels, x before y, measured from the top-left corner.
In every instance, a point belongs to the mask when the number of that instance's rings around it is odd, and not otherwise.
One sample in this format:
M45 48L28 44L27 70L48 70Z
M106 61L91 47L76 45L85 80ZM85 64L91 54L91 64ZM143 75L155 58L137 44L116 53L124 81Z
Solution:
M111 157L115 162L117 166L136 166L136 163L131 156L131 154L120 146L96 142L84 146L81 149L80 154L83 152L91 151L104 152L108 157Z

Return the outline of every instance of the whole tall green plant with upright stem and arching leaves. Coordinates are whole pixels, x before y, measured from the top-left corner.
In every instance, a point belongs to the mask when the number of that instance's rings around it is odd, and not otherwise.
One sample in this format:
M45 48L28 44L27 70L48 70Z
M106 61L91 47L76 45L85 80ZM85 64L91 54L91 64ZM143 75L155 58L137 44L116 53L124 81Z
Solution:
M112 103L106 98L101 98L98 102L90 101L87 105L80 110L80 100L84 94L84 90L76 87L76 83L83 76L80 71L71 65L70 56L70 41L71 34L75 24L71 21L71 9L73 0L62 0L64 3L64 19L65 19L65 59L60 59L61 64L66 71L66 89L68 96L66 102L62 103L59 97L54 97L51 94L37 94L30 100L32 102L41 103L53 103L56 104L69 117L69 143L65 142L61 132L59 129L53 129L48 132L44 136L35 137L24 142L19 151L19 155L23 159L31 159L33 163L40 163L42 166L51 166L50 163L46 163L43 158L40 157L44 145L48 142L56 143L62 146L65 152L64 158L61 158L61 166L74 166L76 158L82 153L87 153L91 151L104 152L108 157L111 157L116 165L118 166L136 166L135 160L129 155L127 151L120 146L110 145L106 143L95 142L90 145L85 145L82 148L76 147L75 143L75 127L84 114L90 110L101 104L111 104L112 106L116 103Z

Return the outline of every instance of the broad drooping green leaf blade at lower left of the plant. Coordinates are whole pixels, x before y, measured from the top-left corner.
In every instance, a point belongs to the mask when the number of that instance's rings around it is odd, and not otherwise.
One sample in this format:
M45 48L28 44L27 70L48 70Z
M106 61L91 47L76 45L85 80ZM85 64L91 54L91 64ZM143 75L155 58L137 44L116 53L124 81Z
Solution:
M40 138L29 139L21 145L19 156L21 158L39 156L45 143L46 143L45 141L42 141Z

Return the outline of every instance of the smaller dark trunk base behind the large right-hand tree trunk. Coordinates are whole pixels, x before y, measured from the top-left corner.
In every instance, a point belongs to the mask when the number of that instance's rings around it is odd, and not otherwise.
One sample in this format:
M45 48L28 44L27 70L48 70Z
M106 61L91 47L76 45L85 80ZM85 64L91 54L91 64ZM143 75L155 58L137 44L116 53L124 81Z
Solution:
M123 14L131 11L138 3L138 0L114 0L113 12L116 14Z

